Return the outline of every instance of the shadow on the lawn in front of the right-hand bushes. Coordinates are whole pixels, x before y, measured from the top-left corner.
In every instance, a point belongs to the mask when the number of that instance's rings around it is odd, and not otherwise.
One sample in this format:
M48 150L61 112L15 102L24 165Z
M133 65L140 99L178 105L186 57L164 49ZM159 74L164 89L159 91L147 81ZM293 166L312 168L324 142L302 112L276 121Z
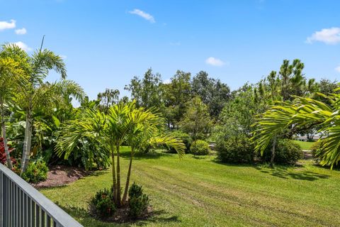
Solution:
M302 167L302 166L299 166ZM308 180L308 181L314 181L317 179L327 179L330 176L329 175L323 175L316 172L308 171L308 170L292 170L292 167L286 167L286 166L276 166L273 169L269 167L261 167L256 166L256 170L259 170L260 172L270 174L274 177L280 177L283 179L300 179L300 180Z

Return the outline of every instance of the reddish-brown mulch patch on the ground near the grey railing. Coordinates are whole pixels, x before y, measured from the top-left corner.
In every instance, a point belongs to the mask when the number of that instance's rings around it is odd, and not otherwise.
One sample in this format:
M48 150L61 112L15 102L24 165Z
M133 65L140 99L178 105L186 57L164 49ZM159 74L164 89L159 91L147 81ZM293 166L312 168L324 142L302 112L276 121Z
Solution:
M75 182L77 179L89 175L89 172L86 172L85 170L78 167L54 165L49 167L49 169L50 170L47 173L47 179L44 182L32 184L33 187L40 189L43 187L62 186L71 182Z

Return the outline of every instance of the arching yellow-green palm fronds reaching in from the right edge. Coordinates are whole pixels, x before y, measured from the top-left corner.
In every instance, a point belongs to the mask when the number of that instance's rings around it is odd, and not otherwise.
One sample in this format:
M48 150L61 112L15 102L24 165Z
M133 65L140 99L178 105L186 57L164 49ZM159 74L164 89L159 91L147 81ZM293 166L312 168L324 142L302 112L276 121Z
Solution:
M340 90L335 89L334 92ZM322 160L320 164L333 167L340 161L340 94L326 96L318 93L330 104L311 98L293 96L295 103L278 102L268 111L258 116L252 140L256 151L263 151L273 138L283 131L293 135L309 128L319 128L319 133L328 135L322 141Z

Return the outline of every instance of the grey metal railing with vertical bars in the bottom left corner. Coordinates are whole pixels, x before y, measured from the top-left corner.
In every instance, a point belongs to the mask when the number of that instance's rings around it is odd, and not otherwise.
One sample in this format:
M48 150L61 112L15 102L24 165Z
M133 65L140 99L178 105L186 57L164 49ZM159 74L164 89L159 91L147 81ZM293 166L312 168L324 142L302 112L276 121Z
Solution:
M0 227L82 227L0 163Z

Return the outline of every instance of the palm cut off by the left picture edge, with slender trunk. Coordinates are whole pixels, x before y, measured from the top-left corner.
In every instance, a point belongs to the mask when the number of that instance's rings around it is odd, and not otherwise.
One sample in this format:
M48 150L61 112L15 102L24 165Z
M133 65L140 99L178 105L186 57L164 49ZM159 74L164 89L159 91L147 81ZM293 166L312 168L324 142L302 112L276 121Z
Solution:
M8 151L6 138L6 122L5 122L5 104L11 101L14 92L17 90L17 84L23 79L23 71L11 57L5 55L8 47L2 46L0 51L0 114L1 114L1 131L4 138L4 150L6 153L6 161L8 168L12 168L11 157ZM14 48L14 47L13 47Z

